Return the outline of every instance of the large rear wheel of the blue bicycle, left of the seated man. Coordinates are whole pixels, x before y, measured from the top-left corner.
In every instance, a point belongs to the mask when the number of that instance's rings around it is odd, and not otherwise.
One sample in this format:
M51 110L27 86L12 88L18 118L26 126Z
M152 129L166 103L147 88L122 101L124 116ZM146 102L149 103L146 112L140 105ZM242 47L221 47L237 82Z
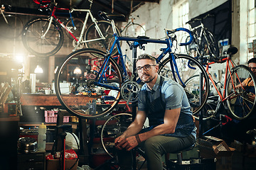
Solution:
M123 79L117 62L110 57L104 63L104 58L95 56L104 57L105 52L90 48L72 52L55 74L58 100L69 113L81 118L99 118L110 113L121 96ZM88 65L92 65L89 72ZM97 69L97 65L102 68L101 71ZM93 99L97 101L95 112L87 104Z

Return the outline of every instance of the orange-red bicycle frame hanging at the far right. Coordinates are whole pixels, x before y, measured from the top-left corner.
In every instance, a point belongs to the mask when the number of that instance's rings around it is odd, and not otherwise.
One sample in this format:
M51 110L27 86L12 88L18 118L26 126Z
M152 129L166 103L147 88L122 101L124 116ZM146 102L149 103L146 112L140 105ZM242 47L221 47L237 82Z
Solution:
M213 77L210 75L210 72L208 71L209 65L210 65L210 64L215 64L216 62L208 62L208 63L207 63L207 66L206 66L206 72L207 72L207 74L208 74L208 76L209 76L209 78L210 78L210 81L212 81L213 86L214 86L214 88L216 89L216 91L217 91L217 93L218 93L218 96L220 96L220 100L221 100L221 101L226 101L228 98L230 98L230 96L232 96L232 95L235 93L235 92L234 92L233 94L230 94L229 96L225 96L226 81L227 81L227 79L228 79L228 73L230 74L230 79L231 79L231 81L232 81L233 89L235 89L233 77L231 77L231 69L230 69L230 64L229 64L229 63L231 63L231 66L232 66L232 67L234 67L234 64L233 64L232 60L230 59L230 57L225 57L225 58L223 58L222 60L220 60L220 63L222 63L222 62L226 62L225 81L224 81L223 93L221 93L221 91L218 90L218 87L215 85L215 82L214 82L214 80L213 80ZM239 77L238 77L238 74L237 74L237 73L235 73L235 74L236 74L236 77L239 78ZM242 84L242 82L240 81L240 79L238 79L238 80L239 80L240 84ZM242 89L244 89L243 86L241 86L241 87L242 87ZM235 97L233 97L233 98L235 98Z

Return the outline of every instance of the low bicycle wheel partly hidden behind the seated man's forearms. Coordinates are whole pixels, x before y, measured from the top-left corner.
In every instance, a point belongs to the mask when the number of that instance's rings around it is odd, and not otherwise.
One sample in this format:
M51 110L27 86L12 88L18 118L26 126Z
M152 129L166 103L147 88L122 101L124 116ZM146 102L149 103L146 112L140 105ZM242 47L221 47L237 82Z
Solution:
M128 126L132 123L132 114L129 113L119 113L117 115L111 116L102 126L100 141L105 152L107 152L110 157L116 155L114 149L114 139L121 132L127 130Z

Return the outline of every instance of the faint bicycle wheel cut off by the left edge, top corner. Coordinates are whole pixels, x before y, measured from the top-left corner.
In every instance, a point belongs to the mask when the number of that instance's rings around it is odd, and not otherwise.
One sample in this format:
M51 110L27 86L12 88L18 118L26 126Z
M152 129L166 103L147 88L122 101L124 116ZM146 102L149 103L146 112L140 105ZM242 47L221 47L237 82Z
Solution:
M6 18L6 20L5 20ZM0 35L4 38L17 38L22 33L23 22L18 16L0 16ZM8 23L6 23L6 21Z

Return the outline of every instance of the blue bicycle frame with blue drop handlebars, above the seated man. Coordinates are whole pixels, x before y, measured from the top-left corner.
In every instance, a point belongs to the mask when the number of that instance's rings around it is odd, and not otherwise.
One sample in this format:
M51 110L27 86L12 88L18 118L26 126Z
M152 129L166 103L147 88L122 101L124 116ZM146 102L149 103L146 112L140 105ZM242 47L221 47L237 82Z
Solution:
M102 64L103 67L100 67L100 71L99 71L100 74L97 74L97 77L96 77L96 79L98 79L99 77L100 77L100 79L99 79L99 81L95 82L95 85L100 85L100 86L107 87L107 88L114 89L114 90L118 90L118 91L120 90L118 87L108 86L108 85L102 84L100 82L102 81L102 77L103 77L103 74L104 74L104 72L102 72L102 71L106 70L106 68L107 68L106 63L110 60L110 57L111 57L111 54L114 50L115 45L117 45L117 50L118 50L118 53L119 53L119 56L120 56L121 66L122 66L122 69L124 70L124 75L123 76L127 77L127 70L125 68L124 59L123 59L123 55L122 55L122 50L121 50L121 46L120 46L120 42L119 42L120 40L124 40L124 41L127 41L127 42L132 41L133 42L132 47L134 49L136 49L139 46L142 47L142 45L147 44L147 43L165 44L167 47L161 49L162 53L161 53L161 55L159 55L159 57L156 58L156 63L159 63L161 61L161 59L163 59L166 54L170 53L170 55L172 57L172 62L171 62L172 74L174 75L174 69L175 69L176 74L178 76L178 79L181 81L181 84L185 87L185 84L181 80L180 74L178 73L178 67L177 67L177 64L176 64L176 61L175 61L175 55L171 51L171 47L173 47L173 44L172 44L171 36L169 36L169 34L175 33L176 31L179 31L179 30L186 31L187 33L189 33L189 35L191 37L191 40L189 42L186 42L186 43L180 43L180 45L188 45L193 40L193 36L192 36L190 30L187 30L186 28L177 28L176 30L165 29L166 40L159 40L159 39L146 38L146 37L143 37L143 38L132 38L132 37L123 37L123 36L119 37L117 35L117 31L115 30L115 27L114 27L114 21L111 20L111 23L112 23L112 28L113 28L113 31L114 31L114 35L113 35L114 36L114 43L113 43L112 47L110 48L109 52L107 52L107 55L105 56L105 61ZM133 55L132 58L133 58L133 60L135 60L137 58L136 52L134 52L134 55ZM135 74L134 71L135 70L133 70L132 74ZM174 79L176 81L176 77L174 77ZM140 79L138 79L137 82L140 82Z

